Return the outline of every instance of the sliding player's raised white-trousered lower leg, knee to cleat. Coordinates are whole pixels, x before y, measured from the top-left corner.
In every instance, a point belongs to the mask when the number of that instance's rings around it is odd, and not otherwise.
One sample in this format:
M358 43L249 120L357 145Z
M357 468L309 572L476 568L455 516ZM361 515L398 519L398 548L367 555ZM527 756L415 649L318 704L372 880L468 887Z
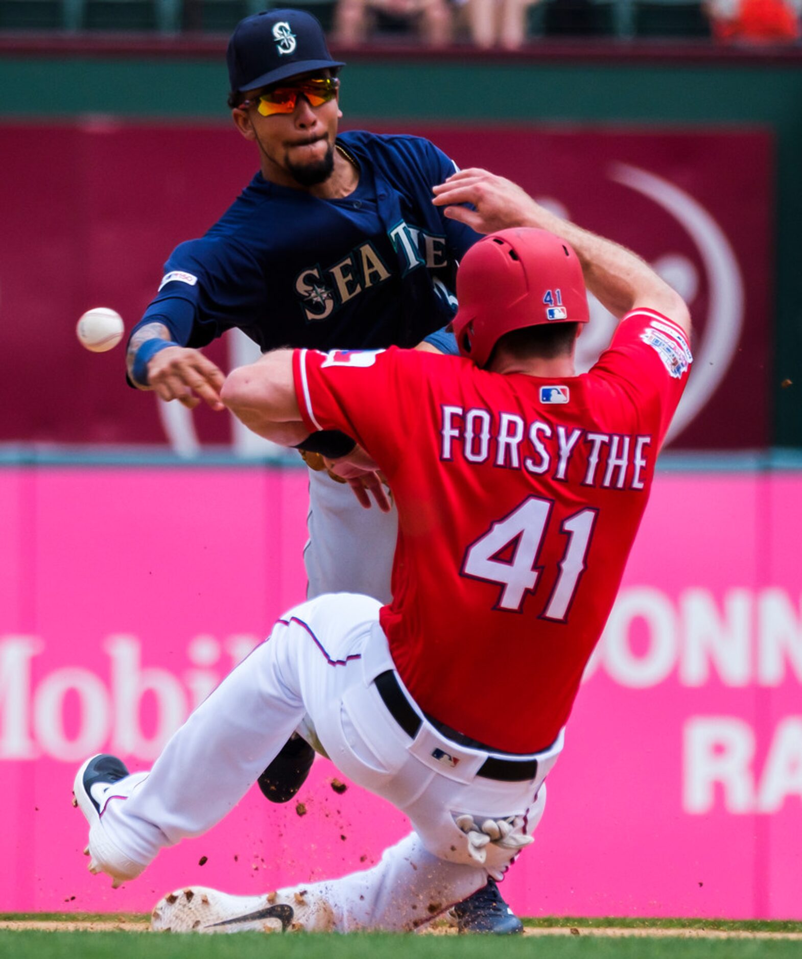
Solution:
M377 604L370 605L372 613ZM283 682L295 673L286 632L285 623L276 624L177 730L149 775L89 783L79 771L75 792L90 825L90 865L133 878L159 849L201 835L237 805L304 713L300 694L288 692L297 683Z

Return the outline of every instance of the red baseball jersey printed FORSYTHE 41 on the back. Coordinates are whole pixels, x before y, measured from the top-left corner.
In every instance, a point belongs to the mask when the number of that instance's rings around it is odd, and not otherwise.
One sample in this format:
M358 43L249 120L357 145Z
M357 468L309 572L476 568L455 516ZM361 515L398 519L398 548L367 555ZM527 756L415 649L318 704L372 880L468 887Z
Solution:
M389 481L399 532L381 622L425 713L506 752L554 741L691 362L682 330L649 310L568 378L396 348L295 352L306 427L353 436Z

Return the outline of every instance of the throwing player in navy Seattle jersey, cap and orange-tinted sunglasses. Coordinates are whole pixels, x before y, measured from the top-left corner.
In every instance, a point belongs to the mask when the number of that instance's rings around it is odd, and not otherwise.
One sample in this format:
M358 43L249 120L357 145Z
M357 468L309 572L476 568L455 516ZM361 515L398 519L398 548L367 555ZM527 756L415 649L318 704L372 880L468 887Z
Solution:
M227 50L229 105L239 132L259 153L259 172L200 239L168 259L153 302L130 335L134 386L192 408L222 410L224 374L200 348L238 327L263 351L328 350L391 344L454 351L442 328L456 308L455 272L477 234L432 203L432 188L454 163L426 140L338 135L342 62L329 54L315 17L273 10L247 17ZM310 436L288 426L285 445L340 456L342 433ZM362 508L360 483L382 509ZM310 472L307 596L352 592L389 600L397 512L375 477L348 485ZM303 736L314 730L301 724ZM314 759L293 737L260 778L285 802ZM490 882L456 911L460 927L506 933L522 926Z

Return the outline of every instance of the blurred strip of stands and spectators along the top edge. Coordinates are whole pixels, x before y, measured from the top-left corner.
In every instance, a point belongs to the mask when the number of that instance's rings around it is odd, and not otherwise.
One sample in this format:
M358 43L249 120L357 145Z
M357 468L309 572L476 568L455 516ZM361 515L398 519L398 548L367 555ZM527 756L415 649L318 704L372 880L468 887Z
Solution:
M292 0L274 0L283 6ZM266 4L265 6L270 6ZM335 46L421 43L517 50L540 37L798 44L802 0L305 0ZM0 32L228 33L258 0L0 0ZM50 21L45 18L50 16Z

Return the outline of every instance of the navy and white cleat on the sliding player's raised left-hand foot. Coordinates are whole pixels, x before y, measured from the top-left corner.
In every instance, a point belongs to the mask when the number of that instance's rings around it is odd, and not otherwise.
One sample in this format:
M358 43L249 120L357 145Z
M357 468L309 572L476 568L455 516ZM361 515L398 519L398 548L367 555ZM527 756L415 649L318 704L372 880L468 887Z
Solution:
M135 879L145 869L143 863L130 859L110 841L101 821L106 803L119 791L115 784L128 775L122 760L100 753L83 763L73 784L73 805L81 809L89 824L89 844L83 850L89 856L89 872L106 873L113 879L113 889Z

